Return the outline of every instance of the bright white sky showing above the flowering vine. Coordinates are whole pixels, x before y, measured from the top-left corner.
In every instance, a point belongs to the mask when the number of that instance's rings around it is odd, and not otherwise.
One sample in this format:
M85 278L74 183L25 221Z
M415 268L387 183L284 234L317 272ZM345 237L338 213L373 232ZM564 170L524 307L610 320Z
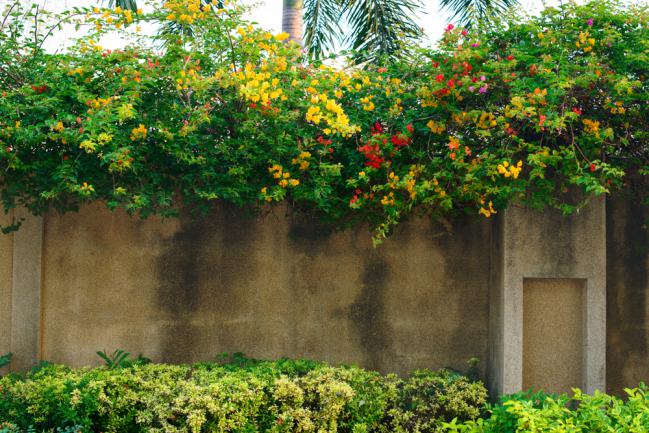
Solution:
M28 3L30 0L23 0ZM160 0L163 1L163 0ZM239 0L246 5L254 6L249 18L259 23L274 33L279 33L282 27L282 0ZM545 6L558 5L567 0L520 0L520 8L526 12L537 12ZM12 2L12 0L0 0L0 9L2 6ZM102 0L31 0L32 3L40 4L41 7L52 11L60 11L74 6L88 6L101 4ZM581 3L581 1L579 1ZM105 4L108 2L106 1ZM451 22L447 13L441 12L438 0L424 0L424 8L416 21L424 29L428 44L434 44L442 35L446 25ZM53 48L61 45L62 36L59 39L48 41L47 47ZM107 48L107 44L102 44ZM110 45L110 44L108 44Z

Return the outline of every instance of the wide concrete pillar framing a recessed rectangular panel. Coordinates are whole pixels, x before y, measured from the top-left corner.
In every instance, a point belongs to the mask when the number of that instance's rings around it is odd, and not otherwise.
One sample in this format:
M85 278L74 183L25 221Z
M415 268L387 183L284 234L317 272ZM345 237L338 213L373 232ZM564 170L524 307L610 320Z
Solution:
M579 362L579 386L587 392L604 391L606 382L606 225L603 197L592 198L578 213L564 216L558 211L536 212L512 206L500 216L492 245L493 275L490 293L489 385L497 395L523 389L524 296L525 288L547 287L547 302L552 306L553 290L581 290L583 327L565 329L579 336L575 348L578 359L564 360L557 353L556 367L562 362ZM547 279L547 280L543 280ZM563 288L563 289L562 289ZM530 292L531 293L531 292ZM558 292L555 292L558 293ZM562 292L563 293L563 292ZM543 292L541 292L543 296ZM559 297L557 297L559 299ZM582 301L579 301L582 302ZM539 305L538 302L531 305ZM559 306L558 306L559 307ZM559 310L559 309L557 309ZM552 309L550 310L551 312ZM567 311L574 311L567 309ZM537 314L536 317L539 315ZM551 319L540 326L565 326ZM574 331L574 332L573 332ZM539 333L537 333L538 335ZM540 333L542 335L542 333ZM540 348L543 350L543 348ZM573 355L574 358L574 355ZM550 369L548 369L549 371ZM534 384L528 384L533 386Z

